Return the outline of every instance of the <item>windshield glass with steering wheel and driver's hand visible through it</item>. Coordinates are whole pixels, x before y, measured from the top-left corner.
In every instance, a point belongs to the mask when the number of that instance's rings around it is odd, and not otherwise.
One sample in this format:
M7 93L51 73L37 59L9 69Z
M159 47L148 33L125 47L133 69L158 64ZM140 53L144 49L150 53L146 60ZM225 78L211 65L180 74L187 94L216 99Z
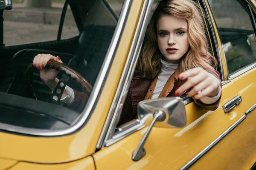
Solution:
M0 128L66 129L90 101L123 0L12 2L0 27Z

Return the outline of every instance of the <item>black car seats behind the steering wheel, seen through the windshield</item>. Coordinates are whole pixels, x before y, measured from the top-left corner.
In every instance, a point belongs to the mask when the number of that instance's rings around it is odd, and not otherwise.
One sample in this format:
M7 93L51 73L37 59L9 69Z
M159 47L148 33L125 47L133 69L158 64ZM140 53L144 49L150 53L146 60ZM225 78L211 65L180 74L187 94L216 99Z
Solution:
M37 54L52 54L61 57L64 64L79 72L91 85L94 85L113 37L114 29L115 26L86 26L80 34L74 54L38 49L18 51L12 58L12 66L15 67L15 70L12 73L7 73L6 79L1 82L0 91L30 97L26 92L24 73ZM34 72L33 80L38 95L43 101L48 101L51 91L41 81L39 71ZM76 86L72 81L69 81L68 85Z

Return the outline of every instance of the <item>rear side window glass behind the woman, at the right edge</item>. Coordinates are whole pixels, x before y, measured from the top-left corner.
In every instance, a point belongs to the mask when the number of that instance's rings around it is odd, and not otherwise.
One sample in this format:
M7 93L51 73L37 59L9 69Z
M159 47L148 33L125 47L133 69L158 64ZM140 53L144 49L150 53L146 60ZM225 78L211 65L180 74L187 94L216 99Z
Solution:
M228 71L233 74L256 61L256 40L250 11L241 0L212 0Z

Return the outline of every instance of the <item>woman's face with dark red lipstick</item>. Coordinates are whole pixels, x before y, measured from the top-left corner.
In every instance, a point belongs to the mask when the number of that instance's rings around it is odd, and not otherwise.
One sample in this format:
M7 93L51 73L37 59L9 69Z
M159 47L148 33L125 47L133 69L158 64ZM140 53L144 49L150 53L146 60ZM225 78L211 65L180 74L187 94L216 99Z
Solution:
M162 15L157 22L157 43L163 59L180 63L180 58L188 51L188 24L171 15Z

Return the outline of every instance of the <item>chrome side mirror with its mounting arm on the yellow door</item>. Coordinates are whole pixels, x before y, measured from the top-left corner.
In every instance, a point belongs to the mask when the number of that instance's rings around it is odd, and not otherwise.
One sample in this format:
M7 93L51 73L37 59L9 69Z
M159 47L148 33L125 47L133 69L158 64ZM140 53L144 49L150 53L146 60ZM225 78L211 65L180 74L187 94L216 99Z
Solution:
M150 125L132 155L134 161L145 156L144 144L152 127L184 127L186 125L185 105L180 97L144 100L138 104L137 112L140 122L146 126L149 123Z

